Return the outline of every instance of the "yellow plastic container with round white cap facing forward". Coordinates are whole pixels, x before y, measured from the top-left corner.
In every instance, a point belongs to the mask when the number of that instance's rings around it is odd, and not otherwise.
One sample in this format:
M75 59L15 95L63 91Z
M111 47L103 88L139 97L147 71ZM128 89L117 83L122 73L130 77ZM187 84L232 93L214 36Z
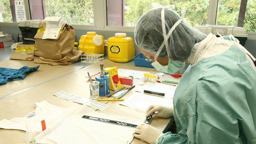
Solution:
M80 37L78 50L90 54L104 54L104 37L97 35L95 31L88 31Z

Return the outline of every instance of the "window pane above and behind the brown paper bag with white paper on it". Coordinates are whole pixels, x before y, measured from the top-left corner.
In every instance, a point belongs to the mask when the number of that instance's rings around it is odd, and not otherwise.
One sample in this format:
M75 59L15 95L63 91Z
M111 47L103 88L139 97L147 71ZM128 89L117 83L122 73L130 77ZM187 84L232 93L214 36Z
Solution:
M68 24L93 25L93 0L29 0L32 19L62 17Z

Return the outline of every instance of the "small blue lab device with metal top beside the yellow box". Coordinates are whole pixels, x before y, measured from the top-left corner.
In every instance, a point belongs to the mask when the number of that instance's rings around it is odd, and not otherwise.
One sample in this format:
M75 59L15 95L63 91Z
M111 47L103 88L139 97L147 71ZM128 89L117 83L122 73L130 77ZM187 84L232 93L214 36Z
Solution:
M99 82L100 96L109 94L109 77L106 76L108 72L103 71L104 64L100 64L100 76L96 76L95 80Z

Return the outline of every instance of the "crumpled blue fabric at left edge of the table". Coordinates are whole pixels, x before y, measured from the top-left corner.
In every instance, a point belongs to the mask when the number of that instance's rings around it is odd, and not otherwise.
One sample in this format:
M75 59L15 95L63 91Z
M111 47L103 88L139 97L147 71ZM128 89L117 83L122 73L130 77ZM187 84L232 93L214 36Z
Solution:
M27 74L36 71L38 68L39 66L32 68L23 66L20 69L0 68L0 85L6 84L8 81L24 79Z

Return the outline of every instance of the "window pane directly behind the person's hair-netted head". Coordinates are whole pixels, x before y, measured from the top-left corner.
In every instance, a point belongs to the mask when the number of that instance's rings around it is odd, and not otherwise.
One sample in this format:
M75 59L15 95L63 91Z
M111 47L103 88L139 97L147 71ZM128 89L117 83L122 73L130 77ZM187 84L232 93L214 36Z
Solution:
M174 4L180 15L187 7L185 17L193 27L207 22L209 0L108 0L108 26L135 26L141 15L152 8L152 2L162 6Z

